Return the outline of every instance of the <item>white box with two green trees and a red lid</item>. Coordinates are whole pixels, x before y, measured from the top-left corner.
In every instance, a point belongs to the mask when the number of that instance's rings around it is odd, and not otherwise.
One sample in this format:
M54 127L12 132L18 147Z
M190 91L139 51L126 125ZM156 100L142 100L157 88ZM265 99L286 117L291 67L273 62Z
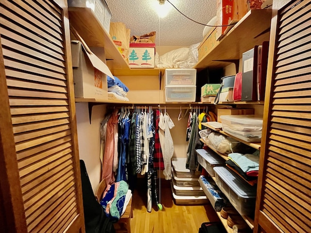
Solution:
M154 68L155 44L130 43L128 60L131 68Z

